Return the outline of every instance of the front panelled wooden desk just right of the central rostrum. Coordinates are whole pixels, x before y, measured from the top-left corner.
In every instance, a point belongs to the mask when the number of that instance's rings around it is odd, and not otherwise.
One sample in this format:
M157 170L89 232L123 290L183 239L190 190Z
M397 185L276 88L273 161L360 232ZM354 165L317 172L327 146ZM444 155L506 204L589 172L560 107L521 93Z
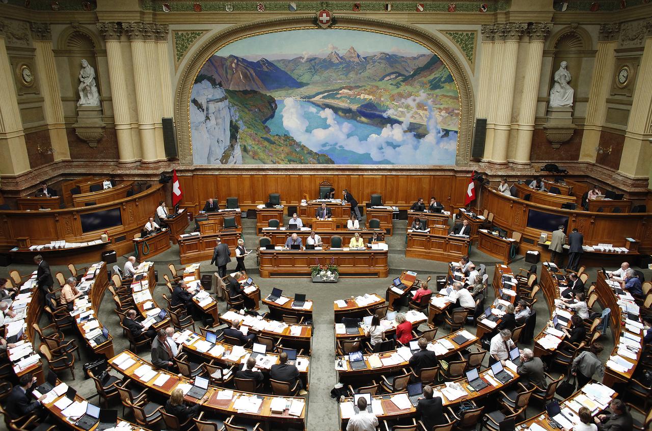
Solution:
M471 239L435 233L410 232L406 246L406 258L458 261L469 254Z

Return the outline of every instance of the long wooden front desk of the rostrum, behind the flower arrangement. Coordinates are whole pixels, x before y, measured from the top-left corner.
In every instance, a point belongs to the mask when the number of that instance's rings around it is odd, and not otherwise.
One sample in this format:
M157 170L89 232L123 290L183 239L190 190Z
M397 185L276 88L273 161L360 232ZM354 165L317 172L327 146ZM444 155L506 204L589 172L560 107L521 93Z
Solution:
M338 266L342 276L385 278L388 250L259 250L260 276L310 276L314 265Z

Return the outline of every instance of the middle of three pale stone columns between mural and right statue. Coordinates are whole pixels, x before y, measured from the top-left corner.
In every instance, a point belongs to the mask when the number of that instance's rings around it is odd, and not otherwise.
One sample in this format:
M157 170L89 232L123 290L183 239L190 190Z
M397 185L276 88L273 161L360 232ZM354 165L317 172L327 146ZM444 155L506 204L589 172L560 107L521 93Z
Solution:
M499 62L497 88L496 88L496 122L494 125L494 147L492 149L492 162L497 164L507 163L507 145L509 145L509 131L512 123L512 103L514 101L514 80L516 79L516 60L518 56L518 41L526 31L527 24L508 22L504 24L503 35L505 42L502 55L496 57Z

